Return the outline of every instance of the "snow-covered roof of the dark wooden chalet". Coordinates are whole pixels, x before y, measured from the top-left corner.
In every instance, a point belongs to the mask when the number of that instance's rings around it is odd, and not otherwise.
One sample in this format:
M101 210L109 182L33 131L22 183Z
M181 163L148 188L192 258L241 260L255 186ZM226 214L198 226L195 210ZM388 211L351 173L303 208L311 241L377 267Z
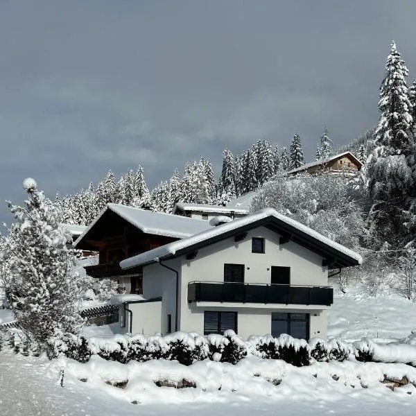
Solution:
M126 205L120 204L107 204L100 214L94 218L94 221L84 230L83 234L78 237L74 246L83 240L89 230L109 210L121 216L121 218L146 234L184 239L211 228L208 221L205 220L196 220L173 214L162 214L161 212L127 207Z

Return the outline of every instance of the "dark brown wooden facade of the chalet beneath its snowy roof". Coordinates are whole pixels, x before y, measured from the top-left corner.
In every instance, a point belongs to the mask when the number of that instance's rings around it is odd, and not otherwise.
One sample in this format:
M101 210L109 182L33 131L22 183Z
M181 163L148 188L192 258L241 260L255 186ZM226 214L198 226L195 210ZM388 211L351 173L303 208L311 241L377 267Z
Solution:
M172 237L145 234L121 216L108 210L89 229L76 248L98 252L98 264L85 267L87 275L97 278L110 277L119 283L121 293L141 294L141 268L135 269L134 273L121 270L120 261L175 240L177 239Z

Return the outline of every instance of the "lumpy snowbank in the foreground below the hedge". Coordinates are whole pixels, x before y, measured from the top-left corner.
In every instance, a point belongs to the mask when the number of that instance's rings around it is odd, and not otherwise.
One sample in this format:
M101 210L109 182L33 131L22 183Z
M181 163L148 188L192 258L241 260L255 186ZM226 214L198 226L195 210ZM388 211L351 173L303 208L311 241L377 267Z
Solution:
M237 365L201 361L184 366L164 360L120 364L93 356L85 364L62 357L51 367L56 372L64 367L65 378L71 383L84 382L94 389L106 389L113 397L137 404L215 401L232 395L254 400L307 397L332 401L352 388L369 389L370 395L388 395L386 375L390 388L393 380L405 380L406 385L396 388L395 394L416 394L416 369L401 364L345 361L293 367L284 361L252 356Z

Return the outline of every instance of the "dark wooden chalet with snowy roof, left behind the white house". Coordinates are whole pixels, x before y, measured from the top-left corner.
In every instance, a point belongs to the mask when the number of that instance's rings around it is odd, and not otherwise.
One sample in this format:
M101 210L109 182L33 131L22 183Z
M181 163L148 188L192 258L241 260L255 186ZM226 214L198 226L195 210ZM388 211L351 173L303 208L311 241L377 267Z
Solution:
M210 227L208 221L107 204L85 227L74 247L98 252L98 264L85 266L87 275L110 277L119 283L121 292L141 293L141 268L122 270L120 261Z

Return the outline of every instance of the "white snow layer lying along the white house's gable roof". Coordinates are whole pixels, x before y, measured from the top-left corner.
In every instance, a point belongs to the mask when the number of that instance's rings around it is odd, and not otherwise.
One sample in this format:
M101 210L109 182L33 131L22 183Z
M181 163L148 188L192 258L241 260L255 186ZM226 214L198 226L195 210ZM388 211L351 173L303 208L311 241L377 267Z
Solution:
M309 236L313 237L314 239L317 239L318 241L321 241L322 243L329 245L329 247L334 248L339 252L342 252L348 257L352 257L352 259L355 259L360 264L363 261L361 255L354 252L353 250L350 250L349 248L346 248L343 245L336 243L335 241L332 241L331 239L328 239L325 236L322 236L322 234L311 229L310 227L307 227L306 225L299 223L296 220L293 220L292 218L288 218L283 214L279 214L273 208L265 208L261 209L260 211L254 212L254 214L251 214L244 218L239 218L237 220L231 221L230 223L218 225L215 228L207 229L193 236L189 236L186 239L174 241L173 243L168 243L166 245L162 245L161 247L154 248L153 250L137 254L134 257L130 257L121 261L120 266L122 269L128 269L133 268L135 266L140 266L145 263L159 261L159 259L161 258L167 257L169 255L175 255L178 250L182 250L193 244L200 243L202 241L210 239L211 237L219 236L221 234L224 234L225 232L232 231L233 229L243 227L244 225L254 223L257 220L261 220L270 216L274 216L275 218L283 221L284 223L291 225L292 227L295 227L306 234L309 234Z

